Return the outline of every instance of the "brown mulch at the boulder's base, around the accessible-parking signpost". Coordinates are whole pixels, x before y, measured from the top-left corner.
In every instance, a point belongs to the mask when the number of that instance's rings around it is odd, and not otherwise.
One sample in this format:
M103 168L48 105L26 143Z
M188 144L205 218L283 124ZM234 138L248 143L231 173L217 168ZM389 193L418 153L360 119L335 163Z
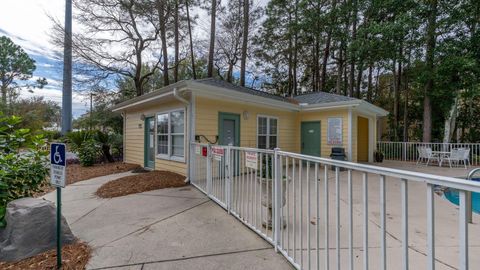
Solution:
M71 245L62 247L62 269L64 270L80 270L85 269L85 266L90 259L92 250L83 243L77 242ZM17 269L35 269L35 270L50 270L57 267L57 251L55 249L40 253L18 262L0 262L0 269L17 270Z

